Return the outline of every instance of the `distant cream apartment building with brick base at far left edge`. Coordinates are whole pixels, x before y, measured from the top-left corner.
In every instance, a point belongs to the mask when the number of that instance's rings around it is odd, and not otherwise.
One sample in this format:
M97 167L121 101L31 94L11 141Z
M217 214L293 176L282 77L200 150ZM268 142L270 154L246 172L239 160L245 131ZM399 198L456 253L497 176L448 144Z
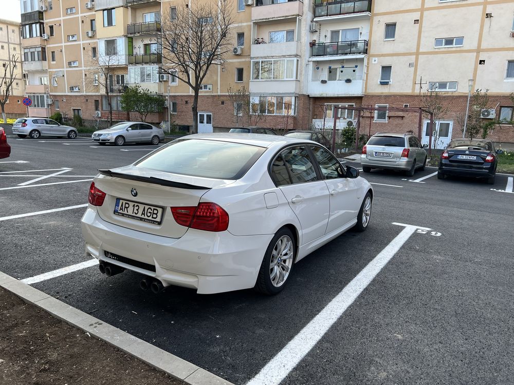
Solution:
M6 113L9 116L16 116L26 112L25 106L22 104L23 95L25 93L25 83L23 81L21 55L22 45L20 39L20 24L10 20L0 19L0 63L4 68L8 67L12 56L16 57L17 63L14 69L14 82L7 104L5 105ZM7 68L9 73L9 68ZM3 72L2 72L3 73Z

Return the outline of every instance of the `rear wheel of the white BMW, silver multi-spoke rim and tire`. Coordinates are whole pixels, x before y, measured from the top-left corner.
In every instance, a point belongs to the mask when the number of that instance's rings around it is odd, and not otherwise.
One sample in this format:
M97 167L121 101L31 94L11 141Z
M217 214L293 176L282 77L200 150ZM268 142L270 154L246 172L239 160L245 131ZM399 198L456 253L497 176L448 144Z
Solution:
M295 254L295 237L291 230L283 227L275 234L266 249L254 289L267 295L280 293L291 275Z

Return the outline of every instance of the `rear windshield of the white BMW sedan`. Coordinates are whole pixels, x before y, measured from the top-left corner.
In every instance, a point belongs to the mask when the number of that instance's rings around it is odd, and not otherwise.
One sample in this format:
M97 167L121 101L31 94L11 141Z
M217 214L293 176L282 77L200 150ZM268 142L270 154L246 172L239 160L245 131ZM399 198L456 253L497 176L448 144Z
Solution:
M241 143L179 139L135 166L211 179L240 179L266 149Z

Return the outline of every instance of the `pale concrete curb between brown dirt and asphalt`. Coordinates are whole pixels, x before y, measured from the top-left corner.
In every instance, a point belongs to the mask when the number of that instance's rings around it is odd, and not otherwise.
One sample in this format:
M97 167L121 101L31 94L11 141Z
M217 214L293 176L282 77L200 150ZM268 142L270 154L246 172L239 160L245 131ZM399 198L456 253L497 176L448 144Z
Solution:
M182 380L189 385L233 385L195 364L159 349L131 334L102 322L42 291L0 272L0 287L38 306L52 316L97 337L115 348L146 362L151 367Z

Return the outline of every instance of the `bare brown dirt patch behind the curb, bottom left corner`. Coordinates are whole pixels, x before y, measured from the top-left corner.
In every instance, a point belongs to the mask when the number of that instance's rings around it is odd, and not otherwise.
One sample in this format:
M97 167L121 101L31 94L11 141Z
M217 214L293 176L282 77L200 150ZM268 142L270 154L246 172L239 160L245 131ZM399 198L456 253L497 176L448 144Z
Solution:
M0 383L170 384L159 372L0 288Z

